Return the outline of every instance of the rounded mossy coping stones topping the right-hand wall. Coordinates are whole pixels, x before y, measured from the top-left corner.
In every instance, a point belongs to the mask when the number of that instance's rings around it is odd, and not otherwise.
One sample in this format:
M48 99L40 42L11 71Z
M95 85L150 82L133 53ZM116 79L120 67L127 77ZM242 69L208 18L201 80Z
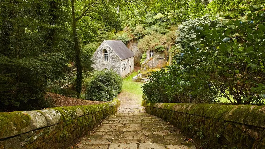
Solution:
M143 106L197 115L217 121L229 121L265 128L265 106L188 103L146 103Z

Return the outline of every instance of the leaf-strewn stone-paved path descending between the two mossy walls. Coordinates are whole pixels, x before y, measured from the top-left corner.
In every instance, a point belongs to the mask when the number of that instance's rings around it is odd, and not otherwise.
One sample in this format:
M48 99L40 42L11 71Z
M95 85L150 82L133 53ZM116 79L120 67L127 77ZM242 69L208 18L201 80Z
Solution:
M125 83L132 83L127 81ZM173 125L144 112L140 96L123 91L116 115L80 139L74 148L104 149L195 149Z

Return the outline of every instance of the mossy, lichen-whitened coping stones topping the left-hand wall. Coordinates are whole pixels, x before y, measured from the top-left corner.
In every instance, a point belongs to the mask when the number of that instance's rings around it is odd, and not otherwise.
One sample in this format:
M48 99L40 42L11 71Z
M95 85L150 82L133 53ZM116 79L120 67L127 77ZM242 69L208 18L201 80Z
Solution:
M15 111L0 113L0 139L24 134L33 130L49 127L63 121L75 119L105 108L117 105L119 99L112 102L86 105L55 107L35 111Z

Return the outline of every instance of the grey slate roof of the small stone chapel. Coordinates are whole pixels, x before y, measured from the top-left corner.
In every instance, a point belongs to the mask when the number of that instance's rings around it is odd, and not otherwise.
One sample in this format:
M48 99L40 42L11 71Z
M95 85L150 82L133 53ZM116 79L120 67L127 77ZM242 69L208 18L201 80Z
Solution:
M105 42L121 58L121 60L134 57L133 52L128 49L121 40L105 40Z

